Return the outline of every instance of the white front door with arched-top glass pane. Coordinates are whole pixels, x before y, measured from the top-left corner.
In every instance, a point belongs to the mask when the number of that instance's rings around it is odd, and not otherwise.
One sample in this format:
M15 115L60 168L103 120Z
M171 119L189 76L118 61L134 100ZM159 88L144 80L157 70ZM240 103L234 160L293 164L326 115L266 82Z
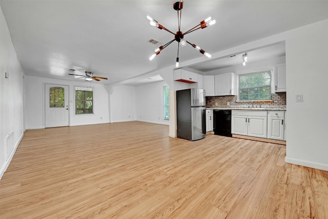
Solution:
M69 126L69 87L45 84L45 127Z

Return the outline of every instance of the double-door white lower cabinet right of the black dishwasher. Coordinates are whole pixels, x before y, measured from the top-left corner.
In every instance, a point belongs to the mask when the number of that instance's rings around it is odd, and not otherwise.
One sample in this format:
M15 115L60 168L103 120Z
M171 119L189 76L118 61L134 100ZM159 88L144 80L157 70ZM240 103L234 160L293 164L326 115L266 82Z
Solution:
M267 110L232 110L233 134L267 138Z

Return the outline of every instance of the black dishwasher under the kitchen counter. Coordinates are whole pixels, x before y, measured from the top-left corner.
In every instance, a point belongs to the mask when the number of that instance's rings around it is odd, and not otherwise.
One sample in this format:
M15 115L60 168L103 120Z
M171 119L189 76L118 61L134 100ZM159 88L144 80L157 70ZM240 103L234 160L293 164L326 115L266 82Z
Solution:
M232 137L231 110L213 110L213 117L214 134Z

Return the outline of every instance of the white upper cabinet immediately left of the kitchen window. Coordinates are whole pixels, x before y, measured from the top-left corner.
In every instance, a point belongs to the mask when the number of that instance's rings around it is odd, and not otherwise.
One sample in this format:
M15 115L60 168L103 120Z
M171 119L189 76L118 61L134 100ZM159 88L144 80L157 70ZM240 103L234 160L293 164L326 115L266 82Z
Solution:
M214 77L215 96L235 95L235 73L218 74Z

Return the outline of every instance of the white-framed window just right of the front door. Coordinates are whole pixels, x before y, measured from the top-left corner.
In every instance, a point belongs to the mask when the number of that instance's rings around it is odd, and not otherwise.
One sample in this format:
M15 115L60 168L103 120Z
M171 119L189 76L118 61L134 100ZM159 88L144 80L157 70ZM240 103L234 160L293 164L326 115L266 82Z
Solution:
M75 114L93 113L93 89L75 87Z

